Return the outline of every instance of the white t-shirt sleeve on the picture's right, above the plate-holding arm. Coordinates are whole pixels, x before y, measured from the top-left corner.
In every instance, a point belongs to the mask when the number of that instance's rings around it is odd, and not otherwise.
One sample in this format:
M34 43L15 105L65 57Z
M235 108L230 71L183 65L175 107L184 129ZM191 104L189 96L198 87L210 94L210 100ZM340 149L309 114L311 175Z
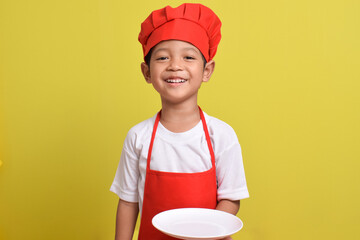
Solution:
M236 137L233 140L233 144L216 157L218 201L235 201L249 197L241 147Z

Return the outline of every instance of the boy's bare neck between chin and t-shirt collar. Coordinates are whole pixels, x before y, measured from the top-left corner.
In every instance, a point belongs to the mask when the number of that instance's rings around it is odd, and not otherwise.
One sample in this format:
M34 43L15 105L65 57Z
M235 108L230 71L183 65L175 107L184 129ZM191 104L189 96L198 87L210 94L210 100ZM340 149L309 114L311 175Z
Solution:
M162 103L161 124L171 132L185 132L200 121L197 103Z

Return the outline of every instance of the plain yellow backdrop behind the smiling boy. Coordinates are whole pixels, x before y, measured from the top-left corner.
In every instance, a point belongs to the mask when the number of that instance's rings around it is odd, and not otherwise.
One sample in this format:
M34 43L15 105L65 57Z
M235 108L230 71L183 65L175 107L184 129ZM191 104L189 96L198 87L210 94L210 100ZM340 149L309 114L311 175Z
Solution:
M223 22L199 104L250 191L234 239L359 239L360 2L198 2ZM160 108L140 23L180 3L0 1L1 240L113 239L125 135Z

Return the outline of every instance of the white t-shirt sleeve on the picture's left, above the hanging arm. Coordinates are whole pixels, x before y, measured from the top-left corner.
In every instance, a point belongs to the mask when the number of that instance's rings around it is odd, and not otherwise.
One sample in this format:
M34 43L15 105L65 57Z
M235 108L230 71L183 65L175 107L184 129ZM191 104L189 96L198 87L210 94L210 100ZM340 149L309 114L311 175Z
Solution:
M120 162L110 191L124 201L138 202L139 158L135 151L131 131L126 136Z

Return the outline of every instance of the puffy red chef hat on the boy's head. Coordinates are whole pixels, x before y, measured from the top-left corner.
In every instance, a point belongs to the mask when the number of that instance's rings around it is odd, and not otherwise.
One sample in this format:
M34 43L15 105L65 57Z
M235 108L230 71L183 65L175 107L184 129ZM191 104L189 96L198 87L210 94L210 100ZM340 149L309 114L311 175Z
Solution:
M141 24L139 42L144 58L161 41L176 39L197 47L210 61L221 39L221 21L208 7L184 3L176 8L167 6L153 11Z

